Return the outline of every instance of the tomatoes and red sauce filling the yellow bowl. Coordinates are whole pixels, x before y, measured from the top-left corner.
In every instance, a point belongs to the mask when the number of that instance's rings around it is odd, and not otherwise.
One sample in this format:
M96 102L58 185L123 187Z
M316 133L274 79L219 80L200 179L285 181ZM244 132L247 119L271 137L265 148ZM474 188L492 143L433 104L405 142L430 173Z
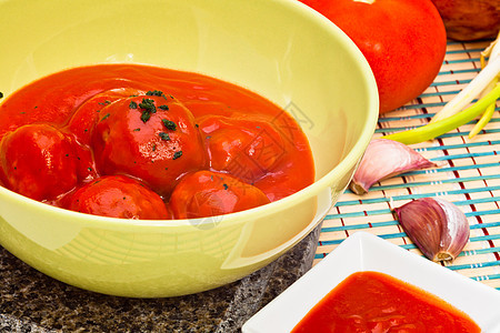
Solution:
M231 213L314 179L308 140L283 109L216 78L142 64L23 87L0 104L0 140L3 186L116 218Z

